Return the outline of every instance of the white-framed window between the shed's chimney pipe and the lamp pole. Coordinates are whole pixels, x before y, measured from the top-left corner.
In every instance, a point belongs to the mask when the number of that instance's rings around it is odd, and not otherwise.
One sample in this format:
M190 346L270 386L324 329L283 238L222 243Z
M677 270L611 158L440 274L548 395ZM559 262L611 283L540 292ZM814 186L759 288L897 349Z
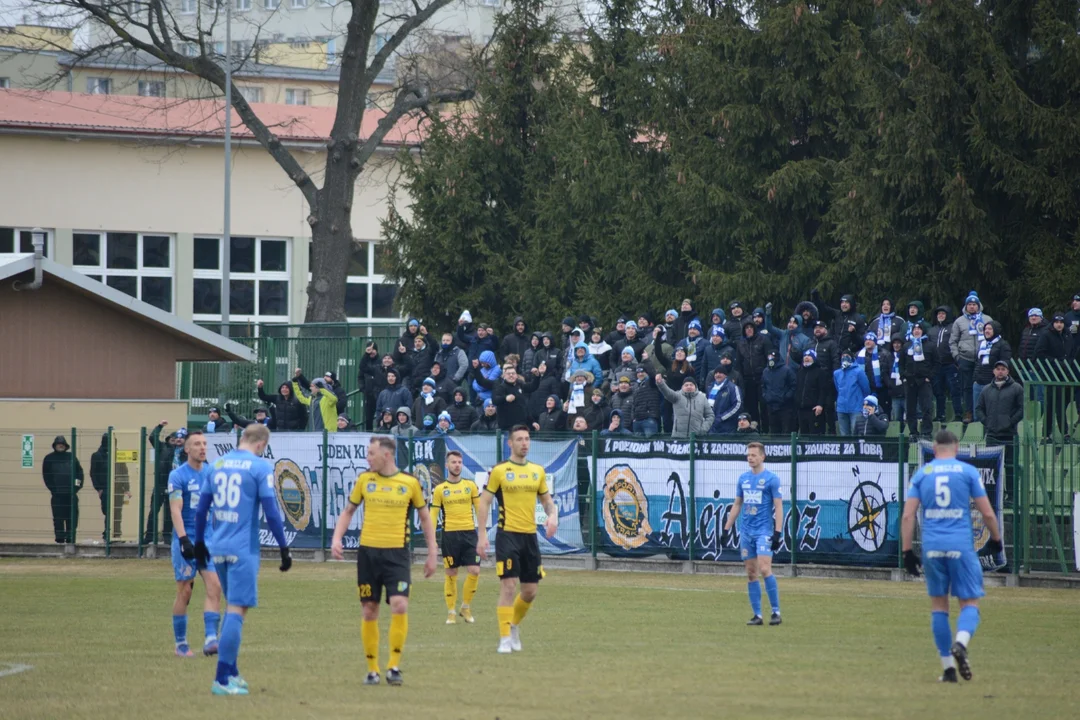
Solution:
M71 264L87 277L173 312L173 239L136 232L76 232Z

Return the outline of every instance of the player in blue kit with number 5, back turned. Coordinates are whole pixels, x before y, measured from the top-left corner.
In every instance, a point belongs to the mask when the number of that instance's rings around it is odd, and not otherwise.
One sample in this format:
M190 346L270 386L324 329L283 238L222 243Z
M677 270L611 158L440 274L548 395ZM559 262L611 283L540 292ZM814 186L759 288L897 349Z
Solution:
M971 524L972 502L990 531L986 551L994 555L1001 552L998 519L978 471L957 460L957 446L956 435L947 430L934 436L934 459L912 478L901 524L904 567L918 576L919 559L912 549L912 540L916 517L921 521L922 569L930 595L930 627L945 669L942 682L956 682L957 670L964 680L971 680L968 646L978 627L978 598L984 595L983 569ZM960 601L956 638L948 620L949 593Z

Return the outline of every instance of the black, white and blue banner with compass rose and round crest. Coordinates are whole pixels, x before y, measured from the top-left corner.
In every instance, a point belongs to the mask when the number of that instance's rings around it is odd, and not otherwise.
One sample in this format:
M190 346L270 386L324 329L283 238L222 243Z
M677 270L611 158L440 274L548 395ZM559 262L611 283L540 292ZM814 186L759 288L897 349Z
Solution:
M792 510L792 444L765 443L766 468L780 477L784 539L777 559L895 566L902 489L895 443L851 438L800 441ZM689 440L602 438L596 461L598 547L611 555L667 555L740 560L739 526L724 526L740 475L744 443L694 443L690 493ZM792 513L795 513L792 536Z

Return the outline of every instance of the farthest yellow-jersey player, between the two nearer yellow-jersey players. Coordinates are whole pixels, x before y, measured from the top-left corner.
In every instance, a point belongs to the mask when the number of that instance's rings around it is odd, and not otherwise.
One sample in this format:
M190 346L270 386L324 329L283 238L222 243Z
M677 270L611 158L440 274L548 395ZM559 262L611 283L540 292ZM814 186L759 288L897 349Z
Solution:
M480 555L476 554L476 520L473 507L480 503L480 488L469 479L461 479L461 453L446 453L446 480L431 492L431 524L438 526L443 517L443 567L446 568L446 624L458 622L455 608L458 602L458 568L463 567L465 578L461 602L461 620L473 622L472 602L480 583Z

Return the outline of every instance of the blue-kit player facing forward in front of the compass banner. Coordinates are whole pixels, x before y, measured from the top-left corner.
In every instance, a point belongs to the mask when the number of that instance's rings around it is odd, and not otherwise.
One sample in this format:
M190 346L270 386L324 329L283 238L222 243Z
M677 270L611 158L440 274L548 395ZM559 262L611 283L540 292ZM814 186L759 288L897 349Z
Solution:
M780 478L765 468L764 445L747 444L746 462L750 464L750 472L739 476L735 501L731 504L724 529L731 530L735 520L739 520L739 547L746 566L746 578L750 580L746 586L750 607L754 611L754 616L746 624L765 624L761 621L760 576L765 580L765 590L769 594L769 604L772 606L769 624L780 625L780 588L772 574L772 554L780 549L781 531L784 527L783 492Z

